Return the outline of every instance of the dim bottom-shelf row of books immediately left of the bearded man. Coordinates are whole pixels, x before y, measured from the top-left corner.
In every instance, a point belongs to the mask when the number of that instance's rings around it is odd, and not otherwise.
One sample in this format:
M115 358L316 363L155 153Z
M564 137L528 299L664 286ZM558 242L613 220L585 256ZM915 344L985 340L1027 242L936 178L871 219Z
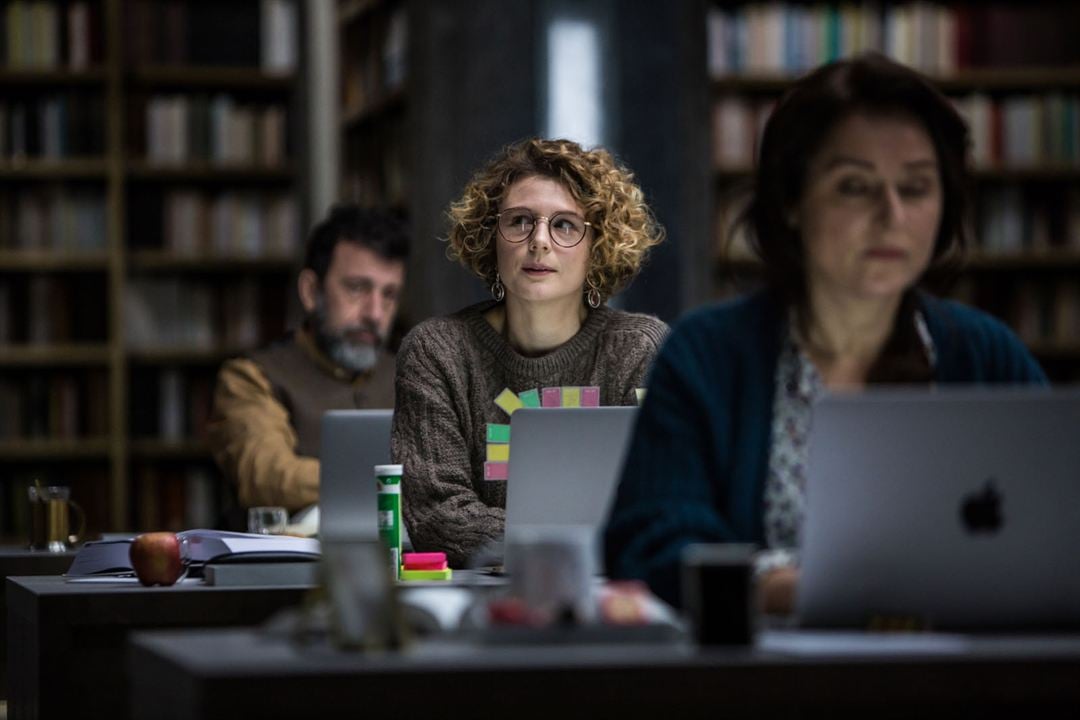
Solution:
M139 531L176 532L219 522L222 486L217 471L206 463L179 467L137 463L132 487Z

